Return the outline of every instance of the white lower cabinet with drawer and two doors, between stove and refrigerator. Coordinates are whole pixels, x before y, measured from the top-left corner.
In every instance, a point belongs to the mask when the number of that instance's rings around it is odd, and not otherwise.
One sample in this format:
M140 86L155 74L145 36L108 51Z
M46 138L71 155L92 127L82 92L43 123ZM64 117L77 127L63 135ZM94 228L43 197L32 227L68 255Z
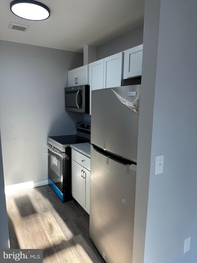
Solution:
M89 157L72 149L72 196L88 214L90 214L89 164Z

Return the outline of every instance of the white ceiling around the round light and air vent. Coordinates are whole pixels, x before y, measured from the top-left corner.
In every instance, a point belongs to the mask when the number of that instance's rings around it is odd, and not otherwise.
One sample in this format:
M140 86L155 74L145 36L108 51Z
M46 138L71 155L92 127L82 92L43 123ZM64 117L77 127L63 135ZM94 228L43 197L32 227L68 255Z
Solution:
M10 0L0 1L0 39L42 47L83 52L143 25L145 0L41 0L50 18L30 21L10 11ZM9 23L30 26L9 29Z

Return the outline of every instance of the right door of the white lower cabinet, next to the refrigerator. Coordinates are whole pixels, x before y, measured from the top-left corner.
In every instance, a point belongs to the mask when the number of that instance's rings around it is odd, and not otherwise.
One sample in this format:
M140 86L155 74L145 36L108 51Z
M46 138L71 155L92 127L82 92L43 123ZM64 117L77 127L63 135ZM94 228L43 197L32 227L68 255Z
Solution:
M90 215L90 171L83 170L83 208Z

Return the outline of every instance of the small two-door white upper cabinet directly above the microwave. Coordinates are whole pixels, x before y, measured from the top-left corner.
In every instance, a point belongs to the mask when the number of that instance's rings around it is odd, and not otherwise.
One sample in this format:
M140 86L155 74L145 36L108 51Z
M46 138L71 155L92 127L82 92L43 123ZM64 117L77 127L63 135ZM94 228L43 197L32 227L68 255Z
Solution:
M88 84L88 65L68 71L68 87Z

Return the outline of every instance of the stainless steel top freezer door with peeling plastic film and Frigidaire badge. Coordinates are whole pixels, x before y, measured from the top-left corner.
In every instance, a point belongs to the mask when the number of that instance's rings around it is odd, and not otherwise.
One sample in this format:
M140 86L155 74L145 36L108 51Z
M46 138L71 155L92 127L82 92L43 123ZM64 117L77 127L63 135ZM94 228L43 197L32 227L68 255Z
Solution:
M140 85L112 89L130 102L140 96ZM137 162L139 113L124 105L112 89L92 91L91 143Z

